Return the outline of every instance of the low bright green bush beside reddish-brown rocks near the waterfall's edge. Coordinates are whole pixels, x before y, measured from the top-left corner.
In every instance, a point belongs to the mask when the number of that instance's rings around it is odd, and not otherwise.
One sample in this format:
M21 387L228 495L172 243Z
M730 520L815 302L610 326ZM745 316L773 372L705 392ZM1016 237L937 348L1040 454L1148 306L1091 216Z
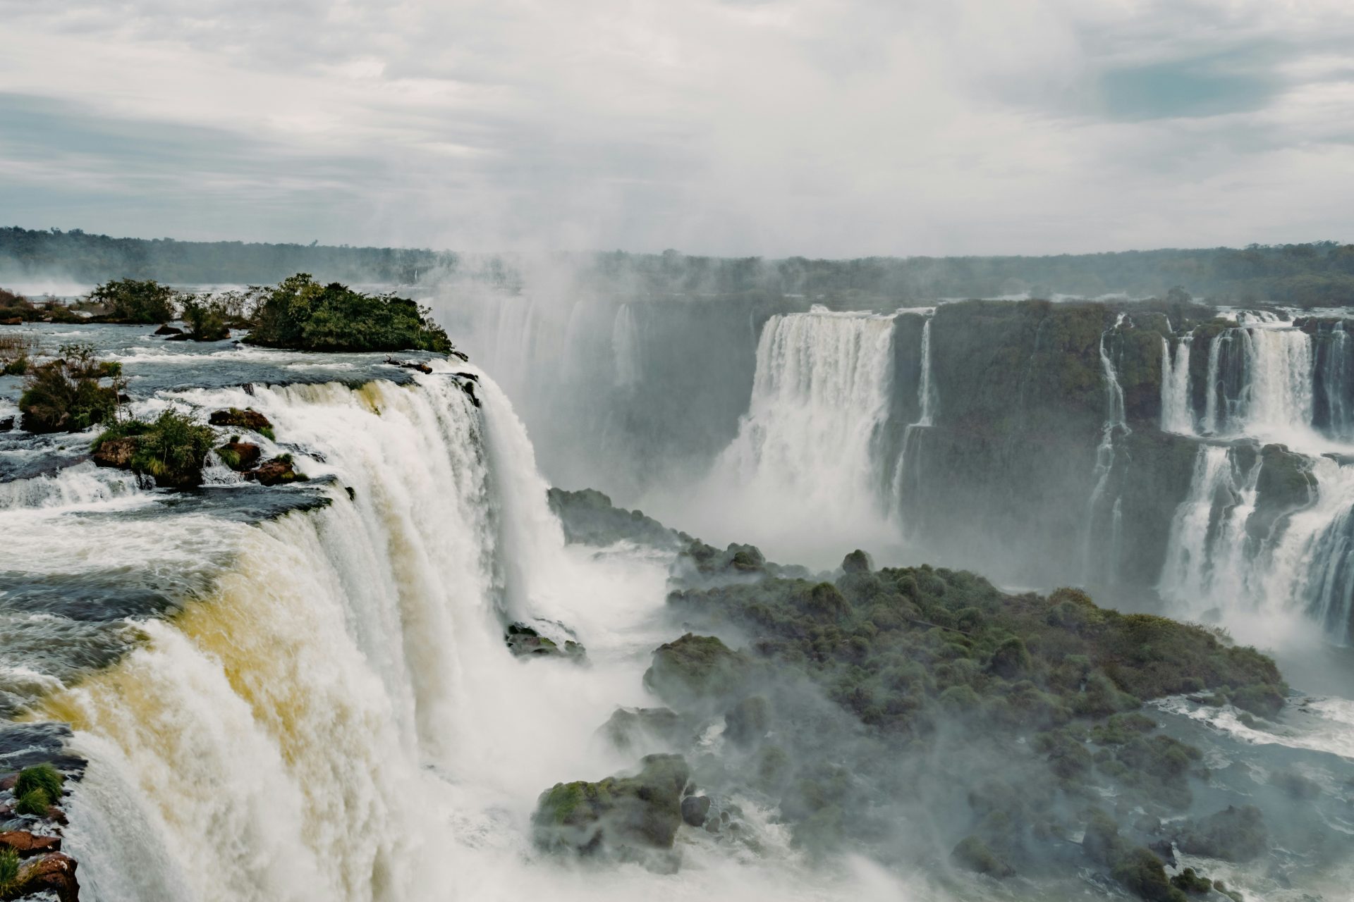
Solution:
M104 430L93 453L96 462L146 473L162 488L192 488L202 484L202 468L215 442L214 429L167 410L153 422L129 419Z

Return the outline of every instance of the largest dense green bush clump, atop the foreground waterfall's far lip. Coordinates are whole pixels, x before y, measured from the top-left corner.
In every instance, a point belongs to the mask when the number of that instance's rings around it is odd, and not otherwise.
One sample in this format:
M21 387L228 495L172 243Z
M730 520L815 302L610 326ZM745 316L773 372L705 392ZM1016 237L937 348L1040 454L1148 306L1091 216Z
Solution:
M297 350L454 350L428 310L408 298L321 285L307 273L286 279L268 295L249 341Z

